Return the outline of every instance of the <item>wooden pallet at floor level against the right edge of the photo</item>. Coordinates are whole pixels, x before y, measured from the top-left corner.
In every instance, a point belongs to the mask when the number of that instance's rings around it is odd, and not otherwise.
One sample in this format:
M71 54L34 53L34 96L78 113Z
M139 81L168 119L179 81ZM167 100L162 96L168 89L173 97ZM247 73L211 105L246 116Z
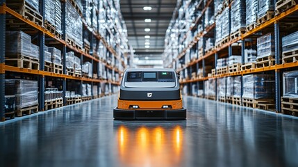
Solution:
M298 98L281 97L281 109L288 111L292 116L298 116Z

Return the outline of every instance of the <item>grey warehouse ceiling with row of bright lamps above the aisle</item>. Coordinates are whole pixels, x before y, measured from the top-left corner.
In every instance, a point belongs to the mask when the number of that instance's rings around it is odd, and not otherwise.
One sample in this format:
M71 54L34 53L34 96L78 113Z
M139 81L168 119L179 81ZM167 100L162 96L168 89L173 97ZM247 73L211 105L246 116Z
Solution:
M161 60L176 0L120 0L120 5L135 56Z

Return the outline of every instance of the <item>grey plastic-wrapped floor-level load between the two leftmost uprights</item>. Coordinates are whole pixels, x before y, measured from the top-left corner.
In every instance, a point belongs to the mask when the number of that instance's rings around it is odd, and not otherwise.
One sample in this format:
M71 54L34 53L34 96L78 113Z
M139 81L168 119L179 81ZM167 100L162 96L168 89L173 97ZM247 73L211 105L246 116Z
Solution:
M6 79L5 87L6 95L15 95L18 110L38 104L38 81Z

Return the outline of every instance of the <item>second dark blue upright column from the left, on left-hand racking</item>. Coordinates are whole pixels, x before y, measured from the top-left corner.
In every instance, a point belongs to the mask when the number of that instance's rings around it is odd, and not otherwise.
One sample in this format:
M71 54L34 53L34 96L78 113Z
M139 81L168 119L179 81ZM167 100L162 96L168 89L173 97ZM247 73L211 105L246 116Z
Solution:
M44 1L40 0L40 14L44 18L45 15L45 6L44 6ZM43 20L44 21L44 20ZM40 47L40 70L44 70L44 33L40 32L38 35L38 45ZM44 75L38 76L38 86L40 88L40 93L39 93L39 110L44 111Z

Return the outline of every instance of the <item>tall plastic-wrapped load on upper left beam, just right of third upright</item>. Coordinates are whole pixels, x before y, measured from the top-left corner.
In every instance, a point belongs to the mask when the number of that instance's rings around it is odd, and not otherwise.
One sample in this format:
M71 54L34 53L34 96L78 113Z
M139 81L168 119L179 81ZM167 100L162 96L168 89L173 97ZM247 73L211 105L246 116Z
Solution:
M70 1L66 3L66 34L72 38L79 46L83 46L83 22Z

